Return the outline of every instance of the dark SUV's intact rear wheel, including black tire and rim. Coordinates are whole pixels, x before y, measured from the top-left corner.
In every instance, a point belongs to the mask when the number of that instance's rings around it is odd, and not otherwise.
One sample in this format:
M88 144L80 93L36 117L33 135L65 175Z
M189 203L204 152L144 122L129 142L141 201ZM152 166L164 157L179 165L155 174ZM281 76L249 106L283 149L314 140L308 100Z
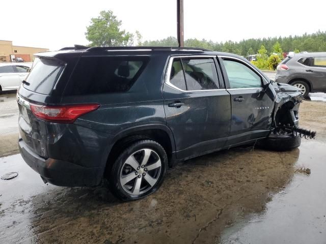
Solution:
M135 142L122 151L107 172L108 186L123 201L146 197L160 187L167 166L167 153L159 143Z

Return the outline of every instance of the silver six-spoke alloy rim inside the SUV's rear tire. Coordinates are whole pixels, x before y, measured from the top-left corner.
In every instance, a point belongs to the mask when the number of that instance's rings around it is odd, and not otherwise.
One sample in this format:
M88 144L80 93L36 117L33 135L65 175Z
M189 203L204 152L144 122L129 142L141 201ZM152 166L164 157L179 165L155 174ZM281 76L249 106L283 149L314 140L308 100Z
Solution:
M150 148L132 153L123 163L120 184L130 195L141 195L153 188L161 174L161 159Z

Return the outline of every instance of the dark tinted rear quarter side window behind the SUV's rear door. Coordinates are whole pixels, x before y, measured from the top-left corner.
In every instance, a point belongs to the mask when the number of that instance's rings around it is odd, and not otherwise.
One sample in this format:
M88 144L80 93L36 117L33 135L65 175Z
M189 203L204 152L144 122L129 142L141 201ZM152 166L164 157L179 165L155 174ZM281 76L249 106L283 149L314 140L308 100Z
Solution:
M80 58L65 95L126 92L144 70L147 56L103 56Z

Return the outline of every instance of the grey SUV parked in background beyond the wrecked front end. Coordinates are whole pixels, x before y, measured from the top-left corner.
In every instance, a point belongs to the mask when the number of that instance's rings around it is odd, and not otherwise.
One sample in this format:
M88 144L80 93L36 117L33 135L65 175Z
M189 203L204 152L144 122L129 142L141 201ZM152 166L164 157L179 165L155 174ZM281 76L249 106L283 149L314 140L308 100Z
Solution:
M276 81L298 87L304 97L326 92L326 52L287 56L277 67Z

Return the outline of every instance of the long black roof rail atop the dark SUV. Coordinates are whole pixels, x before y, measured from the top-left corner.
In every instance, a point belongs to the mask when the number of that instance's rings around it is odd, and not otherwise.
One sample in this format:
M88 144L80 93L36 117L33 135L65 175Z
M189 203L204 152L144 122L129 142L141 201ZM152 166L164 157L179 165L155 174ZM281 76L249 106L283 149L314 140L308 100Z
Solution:
M149 47L149 46L125 46L125 47L89 47L86 51L94 52L94 51L102 51L102 50L196 50L196 51L211 51L205 48L198 47Z

